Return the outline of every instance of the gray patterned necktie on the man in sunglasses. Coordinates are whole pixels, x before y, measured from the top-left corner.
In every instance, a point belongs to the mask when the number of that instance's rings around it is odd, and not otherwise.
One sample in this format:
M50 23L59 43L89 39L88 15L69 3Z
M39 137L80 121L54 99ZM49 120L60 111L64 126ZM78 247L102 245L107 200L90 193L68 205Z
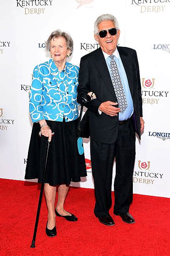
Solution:
M127 108L127 100L124 93L122 81L119 75L119 70L117 68L116 61L114 60L114 55L110 56L110 69L112 74L112 83L114 87L114 92L117 97L117 101L119 103L120 113L123 113L124 110Z

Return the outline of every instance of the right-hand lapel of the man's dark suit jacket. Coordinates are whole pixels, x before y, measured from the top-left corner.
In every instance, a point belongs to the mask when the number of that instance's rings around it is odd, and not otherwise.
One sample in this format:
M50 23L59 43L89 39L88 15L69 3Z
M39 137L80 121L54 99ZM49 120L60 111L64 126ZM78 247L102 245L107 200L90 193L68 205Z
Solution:
M131 96L133 96L133 69L131 59L129 58L127 52L125 52L122 48L117 47L117 49L119 51L119 55L124 66L124 70L126 72Z

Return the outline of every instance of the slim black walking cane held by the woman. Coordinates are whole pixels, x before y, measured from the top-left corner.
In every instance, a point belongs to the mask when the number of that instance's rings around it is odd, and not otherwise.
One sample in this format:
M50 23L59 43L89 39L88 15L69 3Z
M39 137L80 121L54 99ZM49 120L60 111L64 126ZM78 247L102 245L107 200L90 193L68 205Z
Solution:
M54 135L54 133L52 133ZM41 137L41 131L39 132L39 136ZM40 197L39 197L39 202L38 202L38 209L37 209L37 215L36 215L36 223L35 223L35 228L34 228L34 233L33 233L33 240L31 243L31 248L35 248L35 242L36 242L36 234L37 234L37 228L38 228L38 220L39 220L39 215L40 215L40 208L41 208L41 201L43 197L43 189L44 189L44 182L45 182L45 177L46 177L46 164L47 164L47 157L48 157L48 148L50 145L50 141L48 141L48 146L47 146L47 153L46 153L46 163L44 166L44 172L43 172L43 181L41 184L41 191L40 191Z

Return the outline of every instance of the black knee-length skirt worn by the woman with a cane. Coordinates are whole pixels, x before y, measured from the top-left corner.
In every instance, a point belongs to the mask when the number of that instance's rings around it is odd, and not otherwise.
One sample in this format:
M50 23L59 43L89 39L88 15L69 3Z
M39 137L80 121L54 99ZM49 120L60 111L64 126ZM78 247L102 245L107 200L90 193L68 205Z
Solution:
M84 154L79 155L77 148L78 119L70 122L46 120L54 136L50 142L46 165L45 183L51 186L80 182L80 177L86 177ZM43 170L46 161L48 137L38 136L39 123L33 123L28 150L25 179L43 180Z

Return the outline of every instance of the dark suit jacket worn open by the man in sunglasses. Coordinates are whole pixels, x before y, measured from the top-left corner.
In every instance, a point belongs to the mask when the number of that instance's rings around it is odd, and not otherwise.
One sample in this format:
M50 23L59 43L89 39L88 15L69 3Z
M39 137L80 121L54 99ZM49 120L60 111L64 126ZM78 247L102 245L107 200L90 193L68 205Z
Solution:
M117 47L117 49L127 75L134 106L135 130L140 137L142 96L137 54L131 48ZM84 104L82 97L85 97L88 92L94 92L97 99ZM115 102L117 98L104 55L99 48L81 58L77 101L89 109L90 138L94 141L110 144L117 139L119 117L111 117L104 113L99 115L100 104L107 100Z

